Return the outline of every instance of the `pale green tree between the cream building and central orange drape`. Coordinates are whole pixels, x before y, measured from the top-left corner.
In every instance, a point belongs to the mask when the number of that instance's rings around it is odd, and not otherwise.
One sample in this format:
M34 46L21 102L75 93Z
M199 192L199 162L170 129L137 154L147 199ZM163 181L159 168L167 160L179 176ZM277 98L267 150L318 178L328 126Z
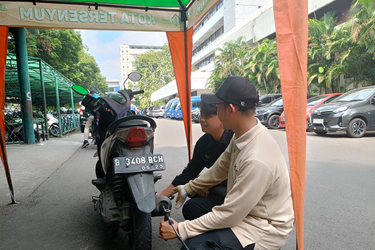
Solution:
M163 87L174 79L171 53L168 45L160 51L150 50L140 54L135 59L136 72L142 75L138 81L138 89L144 94L138 95L141 107L150 106L151 93Z

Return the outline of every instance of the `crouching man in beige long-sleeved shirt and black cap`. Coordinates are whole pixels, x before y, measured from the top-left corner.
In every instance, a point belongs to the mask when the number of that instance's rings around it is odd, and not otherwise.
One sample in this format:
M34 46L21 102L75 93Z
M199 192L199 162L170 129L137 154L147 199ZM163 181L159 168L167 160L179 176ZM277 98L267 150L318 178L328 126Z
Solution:
M230 76L215 94L201 97L205 103L217 104L224 129L235 135L207 172L176 187L176 208L187 195L226 178L227 195L174 226L190 250L280 249L294 224L290 176L279 146L254 116L259 101L254 84L248 78ZM160 222L159 237L176 238L168 222Z

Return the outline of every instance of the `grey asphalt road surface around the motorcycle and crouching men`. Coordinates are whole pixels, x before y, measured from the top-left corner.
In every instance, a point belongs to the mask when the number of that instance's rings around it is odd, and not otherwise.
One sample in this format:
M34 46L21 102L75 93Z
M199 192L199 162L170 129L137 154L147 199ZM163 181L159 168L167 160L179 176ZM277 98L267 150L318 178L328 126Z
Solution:
M167 168L155 184L161 190L186 166L187 149L182 121L156 123L154 153L165 156ZM199 124L192 129L195 142L202 132ZM270 132L288 159L285 130ZM60 140L77 147L82 136L76 132ZM308 133L307 145L305 249L375 249L375 133L360 139ZM0 249L128 249L126 236L119 232L111 238L93 209L91 196L99 195L90 183L95 151L94 145L78 148L20 204L1 207ZM172 209L171 217L183 220L180 210ZM153 249L180 249L177 240L157 237L161 219L153 218ZM295 244L292 232L283 250L295 249Z

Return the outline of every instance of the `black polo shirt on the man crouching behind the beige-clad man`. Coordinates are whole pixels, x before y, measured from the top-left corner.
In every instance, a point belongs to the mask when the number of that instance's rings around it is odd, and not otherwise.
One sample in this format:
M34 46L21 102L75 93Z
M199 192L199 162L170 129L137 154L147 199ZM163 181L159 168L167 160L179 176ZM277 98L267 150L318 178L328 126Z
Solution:
M216 142L210 134L202 135L195 144L193 158L182 173L174 178L172 185L174 187L184 185L198 177L204 168L211 168L228 147L232 137L232 130L227 129L224 130L220 142Z

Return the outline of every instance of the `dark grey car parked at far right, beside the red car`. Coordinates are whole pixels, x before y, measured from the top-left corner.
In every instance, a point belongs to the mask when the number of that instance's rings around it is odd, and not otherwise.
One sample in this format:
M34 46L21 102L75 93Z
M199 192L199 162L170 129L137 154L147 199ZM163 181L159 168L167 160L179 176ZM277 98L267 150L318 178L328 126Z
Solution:
M375 86L350 90L313 109L308 128L318 135L345 131L350 138L375 130Z

